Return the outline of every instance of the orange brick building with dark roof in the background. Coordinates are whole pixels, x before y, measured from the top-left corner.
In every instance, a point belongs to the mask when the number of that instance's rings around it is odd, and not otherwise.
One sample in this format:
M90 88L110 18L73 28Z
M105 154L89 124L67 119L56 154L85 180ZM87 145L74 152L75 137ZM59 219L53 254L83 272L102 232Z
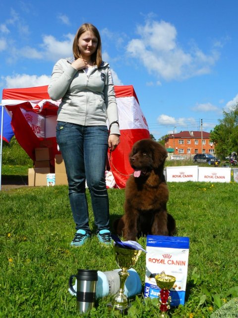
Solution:
M206 153L214 155L214 145L210 142L210 133L205 131L181 131L178 134L170 134L165 139L165 148L169 154L191 156Z

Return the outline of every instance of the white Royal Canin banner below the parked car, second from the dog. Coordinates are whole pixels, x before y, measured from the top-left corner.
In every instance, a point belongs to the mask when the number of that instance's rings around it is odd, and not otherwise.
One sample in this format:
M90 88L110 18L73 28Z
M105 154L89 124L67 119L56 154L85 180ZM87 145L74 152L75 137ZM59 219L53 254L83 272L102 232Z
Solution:
M231 182L231 168L199 167L198 181Z

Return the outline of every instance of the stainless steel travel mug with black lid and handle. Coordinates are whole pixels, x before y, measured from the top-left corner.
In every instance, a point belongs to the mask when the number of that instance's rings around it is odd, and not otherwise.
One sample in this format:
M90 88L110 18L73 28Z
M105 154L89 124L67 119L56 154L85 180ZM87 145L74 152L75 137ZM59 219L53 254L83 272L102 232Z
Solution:
M77 279L76 291L72 285L73 278ZM73 293L76 292L76 307L81 314L86 313L94 307L97 280L97 270L78 269L77 275L69 277L69 288Z

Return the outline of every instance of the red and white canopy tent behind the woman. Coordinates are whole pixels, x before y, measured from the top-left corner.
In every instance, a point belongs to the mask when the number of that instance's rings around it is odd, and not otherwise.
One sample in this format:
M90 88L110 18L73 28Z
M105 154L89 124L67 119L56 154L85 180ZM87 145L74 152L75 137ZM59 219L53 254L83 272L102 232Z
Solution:
M57 110L60 101L51 100L48 86L3 89L2 105L11 115L11 126L20 146L35 160L35 148L52 147L56 142ZM128 154L140 139L150 138L146 119L132 85L115 86L119 110L120 144L109 154L109 163L119 188L124 188L132 173ZM52 162L54 164L54 162Z

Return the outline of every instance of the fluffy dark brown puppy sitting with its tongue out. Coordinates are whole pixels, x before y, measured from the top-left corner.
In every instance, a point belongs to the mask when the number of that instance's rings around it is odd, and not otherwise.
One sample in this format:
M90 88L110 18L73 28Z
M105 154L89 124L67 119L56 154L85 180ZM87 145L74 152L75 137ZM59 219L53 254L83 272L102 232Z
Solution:
M164 176L166 158L166 149L151 139L133 145L129 160L135 171L126 182L124 215L114 224L117 234L124 239L175 234L175 220L166 208L169 199Z

